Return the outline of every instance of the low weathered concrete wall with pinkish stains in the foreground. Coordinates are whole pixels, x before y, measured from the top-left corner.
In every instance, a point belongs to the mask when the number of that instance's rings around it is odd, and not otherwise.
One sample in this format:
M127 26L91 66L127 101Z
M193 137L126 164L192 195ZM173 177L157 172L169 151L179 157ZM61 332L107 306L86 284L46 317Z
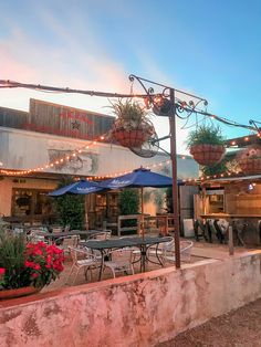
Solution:
M2 302L0 346L154 346L258 297L253 251Z

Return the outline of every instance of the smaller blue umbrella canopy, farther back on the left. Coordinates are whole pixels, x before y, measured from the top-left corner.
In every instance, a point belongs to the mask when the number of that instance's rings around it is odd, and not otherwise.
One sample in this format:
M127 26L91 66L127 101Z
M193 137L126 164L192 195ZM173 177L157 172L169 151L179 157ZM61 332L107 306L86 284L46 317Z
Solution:
M69 186L62 187L58 190L51 191L49 196L51 197L60 197L65 193L72 194L90 194L92 192L98 192L104 190L104 188L100 187L96 182L91 182L86 180L80 180Z

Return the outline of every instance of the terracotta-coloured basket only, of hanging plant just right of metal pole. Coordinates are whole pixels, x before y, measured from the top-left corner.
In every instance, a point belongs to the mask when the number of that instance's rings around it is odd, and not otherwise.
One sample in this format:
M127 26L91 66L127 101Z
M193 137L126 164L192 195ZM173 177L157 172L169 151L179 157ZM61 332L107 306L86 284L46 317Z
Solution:
M191 146L190 154L198 164L215 166L222 159L225 150L222 145L195 145Z

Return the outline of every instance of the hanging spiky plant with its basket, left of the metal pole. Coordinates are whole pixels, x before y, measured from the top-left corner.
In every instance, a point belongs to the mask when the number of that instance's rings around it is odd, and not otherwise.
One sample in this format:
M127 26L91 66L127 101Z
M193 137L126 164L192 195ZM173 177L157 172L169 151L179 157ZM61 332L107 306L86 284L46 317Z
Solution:
M140 147L155 134L146 107L143 107L138 102L119 99L112 104L112 108L116 115L112 137L122 146Z

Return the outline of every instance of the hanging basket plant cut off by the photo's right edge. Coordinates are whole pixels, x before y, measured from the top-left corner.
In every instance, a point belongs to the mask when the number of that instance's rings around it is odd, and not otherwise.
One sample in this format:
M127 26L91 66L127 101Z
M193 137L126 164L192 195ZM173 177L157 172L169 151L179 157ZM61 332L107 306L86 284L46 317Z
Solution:
M239 166L243 174L261 174L261 145L251 145L238 154Z

